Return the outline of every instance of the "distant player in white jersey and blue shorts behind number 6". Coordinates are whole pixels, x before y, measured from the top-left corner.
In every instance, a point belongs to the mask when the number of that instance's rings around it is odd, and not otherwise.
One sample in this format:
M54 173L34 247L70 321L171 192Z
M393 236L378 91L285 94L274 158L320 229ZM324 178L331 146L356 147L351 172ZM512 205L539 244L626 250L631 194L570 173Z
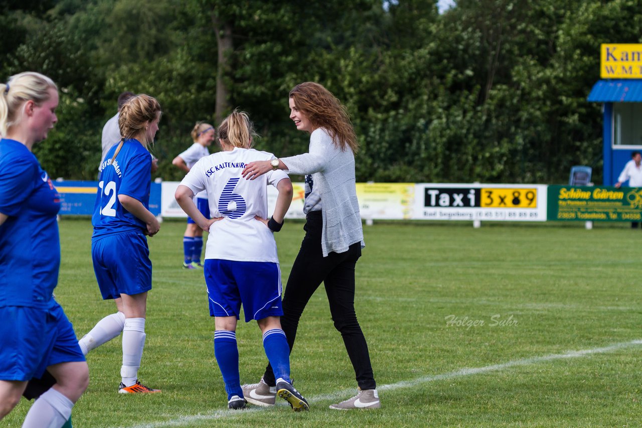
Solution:
M194 129L191 132L192 144L189 149L180 153L171 163L174 166L182 169L186 173L198 162L202 157L208 156L209 147L214 141L214 126L209 123L196 122ZM195 203L198 210L209 218L209 207L207 205L207 192L202 191L196 194ZM183 268L197 269L202 268L200 262L200 255L203 250L203 229L198 227L191 217L187 218L187 228L183 236Z

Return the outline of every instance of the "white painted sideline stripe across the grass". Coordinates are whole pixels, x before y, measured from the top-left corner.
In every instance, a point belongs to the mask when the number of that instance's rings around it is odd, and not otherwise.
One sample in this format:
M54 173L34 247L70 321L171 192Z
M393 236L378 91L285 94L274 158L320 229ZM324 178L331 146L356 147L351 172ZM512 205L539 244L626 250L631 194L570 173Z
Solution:
M569 352L566 352L565 354L549 354L549 355L542 355L541 357L516 359L513 361L508 361L507 363L492 364L490 366L484 366L484 367L462 368L461 370L455 370L455 372L442 373L440 375L422 376L422 377L417 377L416 379L412 379L411 381L401 381L401 382L395 382L394 384L381 385L377 387L377 390L389 391L392 389L399 389L399 388L411 388L413 386L417 386L419 384L424 384L428 382L443 381L444 379L453 379L455 377L478 375L480 373L496 372L498 370L503 370L505 368L510 368L510 367L528 366L530 364L545 363L547 361L555 361L557 359L586 357L587 355L593 355L593 354L605 354L606 352L612 352L618 349L628 348L635 345L642 345L642 339L636 339L629 342L614 343L613 345L609 345L607 347L602 347L602 348L569 351ZM338 400L340 398L345 398L351 395L351 393L354 393L354 390L345 389L343 391L338 391L331 394L316 395L315 397L310 398L308 401L312 403L312 402L325 401L325 400ZM135 425L134 427L131 427L131 428L177 427L180 425L189 424L190 422L195 422L199 420L215 420L215 419L229 418L229 417L238 418L238 417L242 417L242 413L247 413L248 411L260 411L260 410L261 409L257 407L250 407L249 409L242 412L218 410L211 413L205 413L204 415L181 416L180 418L168 420L165 422L153 422L152 424Z

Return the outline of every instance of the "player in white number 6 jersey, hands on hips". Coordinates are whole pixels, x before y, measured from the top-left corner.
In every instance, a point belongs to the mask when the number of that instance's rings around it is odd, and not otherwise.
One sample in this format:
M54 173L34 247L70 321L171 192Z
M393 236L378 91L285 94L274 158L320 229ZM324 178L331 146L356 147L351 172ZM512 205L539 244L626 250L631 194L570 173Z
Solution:
M236 346L236 323L243 304L245 321L257 320L263 332L265 354L276 377L275 393L295 411L308 410L308 402L291 383L290 348L279 321L283 313L281 270L273 232L281 230L292 200L292 184L282 171L271 171L255 182L241 178L248 162L274 158L272 153L251 148L253 135L247 114L232 112L218 128L222 151L196 162L175 197L187 215L209 231L205 283L216 327L214 356L225 382L228 407L245 407ZM279 191L269 220L267 185ZM204 190L213 219L205 218L192 200Z

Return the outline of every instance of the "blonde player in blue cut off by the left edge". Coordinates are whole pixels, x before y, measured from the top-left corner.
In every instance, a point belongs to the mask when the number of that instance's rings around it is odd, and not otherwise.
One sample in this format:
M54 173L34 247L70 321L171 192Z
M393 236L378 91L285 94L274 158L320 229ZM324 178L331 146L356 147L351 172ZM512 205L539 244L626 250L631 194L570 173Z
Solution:
M76 334L53 298L60 268L60 196L31 153L56 123L58 89L39 73L0 83L0 419L27 382L48 370L55 384L22 427L62 427L89 384Z

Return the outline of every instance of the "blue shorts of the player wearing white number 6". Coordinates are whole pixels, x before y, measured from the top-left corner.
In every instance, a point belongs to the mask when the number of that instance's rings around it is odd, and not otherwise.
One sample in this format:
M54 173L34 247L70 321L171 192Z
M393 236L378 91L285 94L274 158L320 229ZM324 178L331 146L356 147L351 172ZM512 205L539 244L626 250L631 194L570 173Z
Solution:
M245 322L281 316L281 268L278 263L205 259L210 316L236 316L241 303Z

